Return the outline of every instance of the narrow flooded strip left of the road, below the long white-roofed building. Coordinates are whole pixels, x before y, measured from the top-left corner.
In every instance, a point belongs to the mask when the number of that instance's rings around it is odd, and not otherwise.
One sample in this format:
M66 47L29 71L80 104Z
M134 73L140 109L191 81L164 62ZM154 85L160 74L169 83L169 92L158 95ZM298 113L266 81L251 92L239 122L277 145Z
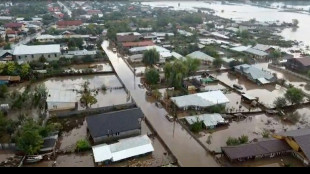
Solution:
M94 63L94 64L82 64L72 65L65 69L65 72L83 72L92 70L93 72L112 72L113 68L109 63Z

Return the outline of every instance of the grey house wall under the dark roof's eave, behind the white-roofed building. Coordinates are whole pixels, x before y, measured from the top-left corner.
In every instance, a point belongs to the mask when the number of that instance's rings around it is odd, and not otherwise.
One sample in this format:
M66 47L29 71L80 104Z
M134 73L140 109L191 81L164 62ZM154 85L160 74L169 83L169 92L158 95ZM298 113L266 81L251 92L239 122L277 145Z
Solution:
M141 135L141 129L135 129L135 130L131 130L131 131L126 131L126 132L120 132L120 135L113 135L113 136L102 136L102 137L97 137L94 138L94 143L95 144L100 144L100 143L106 143L106 142L110 142L110 141L116 141L119 139L124 139L124 138L129 138L129 137L134 137L134 136L138 136Z

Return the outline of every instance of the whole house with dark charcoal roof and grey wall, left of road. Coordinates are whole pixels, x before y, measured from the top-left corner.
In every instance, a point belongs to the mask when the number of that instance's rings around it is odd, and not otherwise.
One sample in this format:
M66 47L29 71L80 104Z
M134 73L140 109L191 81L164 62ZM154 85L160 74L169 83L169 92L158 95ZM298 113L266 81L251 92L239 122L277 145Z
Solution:
M141 134L141 119L144 115L139 108L94 115L86 118L91 140L105 143Z

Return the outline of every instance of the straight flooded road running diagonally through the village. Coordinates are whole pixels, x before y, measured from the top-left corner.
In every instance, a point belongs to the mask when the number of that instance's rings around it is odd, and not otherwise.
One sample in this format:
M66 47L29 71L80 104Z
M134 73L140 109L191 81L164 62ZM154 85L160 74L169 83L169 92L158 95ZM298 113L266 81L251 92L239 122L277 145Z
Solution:
M116 53L110 51L108 46L108 41L102 43L102 48L108 55L116 73L156 132L177 158L179 164L182 167L218 167L219 164L214 157L193 139L181 125L169 122L165 118L167 114L165 109L159 109L154 103L147 102L146 89L137 87L137 84L140 83L140 78L135 78L124 60L118 57Z

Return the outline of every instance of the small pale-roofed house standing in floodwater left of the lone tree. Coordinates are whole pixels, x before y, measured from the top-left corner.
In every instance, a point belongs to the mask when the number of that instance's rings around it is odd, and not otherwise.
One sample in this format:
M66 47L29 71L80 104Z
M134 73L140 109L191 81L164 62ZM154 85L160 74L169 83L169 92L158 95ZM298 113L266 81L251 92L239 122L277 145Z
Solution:
M50 89L46 103L48 111L74 110L78 104L77 94L74 91Z

